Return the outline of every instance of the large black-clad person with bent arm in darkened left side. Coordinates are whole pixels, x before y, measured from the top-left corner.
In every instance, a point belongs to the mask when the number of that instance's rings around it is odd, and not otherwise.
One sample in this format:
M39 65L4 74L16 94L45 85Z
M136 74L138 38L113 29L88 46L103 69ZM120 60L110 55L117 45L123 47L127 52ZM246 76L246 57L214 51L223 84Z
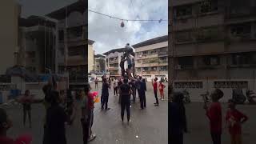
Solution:
M50 107L46 112L46 133L48 134L48 144L66 144L66 130L65 124L68 122L72 124L74 121L74 114L69 116L65 113L62 106L59 106L58 91L51 91Z

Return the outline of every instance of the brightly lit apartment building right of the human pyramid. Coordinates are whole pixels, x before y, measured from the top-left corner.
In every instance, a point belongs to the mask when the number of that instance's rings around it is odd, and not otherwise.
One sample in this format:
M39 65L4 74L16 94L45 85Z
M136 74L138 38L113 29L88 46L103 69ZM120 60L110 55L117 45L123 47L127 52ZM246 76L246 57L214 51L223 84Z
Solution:
M140 42L133 47L138 75L148 80L168 77L168 35Z

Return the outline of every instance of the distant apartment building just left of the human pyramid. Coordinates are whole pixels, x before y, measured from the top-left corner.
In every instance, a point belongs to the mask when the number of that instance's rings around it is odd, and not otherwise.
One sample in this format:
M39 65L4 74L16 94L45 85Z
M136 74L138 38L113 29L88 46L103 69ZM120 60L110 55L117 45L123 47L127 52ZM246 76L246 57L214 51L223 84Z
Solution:
M126 48L119 48L110 50L104 55L106 55L106 70L110 73L110 77L121 76L121 68L119 66L121 62L122 54L126 51Z

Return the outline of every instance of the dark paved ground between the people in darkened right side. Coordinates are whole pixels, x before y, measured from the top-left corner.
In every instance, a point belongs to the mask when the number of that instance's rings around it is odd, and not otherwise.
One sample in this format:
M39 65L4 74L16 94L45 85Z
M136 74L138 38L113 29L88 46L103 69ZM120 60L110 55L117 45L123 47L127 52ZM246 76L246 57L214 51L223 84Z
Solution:
M210 130L209 122L206 118L205 111L202 109L202 102L192 102L186 104L186 117L188 122L189 134L185 134L184 144L204 143L210 144ZM223 118L223 134L222 143L230 143L230 135L228 134L224 118L226 115L227 105L222 104L222 118ZM238 106L238 110L241 110L249 117L248 122L242 125L242 139L243 144L254 144L254 136L256 134L256 106Z

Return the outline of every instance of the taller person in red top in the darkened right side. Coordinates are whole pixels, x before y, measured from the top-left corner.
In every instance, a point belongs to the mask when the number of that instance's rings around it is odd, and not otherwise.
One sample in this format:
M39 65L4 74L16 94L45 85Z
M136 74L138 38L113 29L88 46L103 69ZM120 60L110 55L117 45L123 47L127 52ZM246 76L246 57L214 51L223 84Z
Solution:
M210 95L212 103L210 106L204 106L206 116L210 120L210 134L213 144L222 143L222 106L219 99L223 97L222 90L215 89Z

